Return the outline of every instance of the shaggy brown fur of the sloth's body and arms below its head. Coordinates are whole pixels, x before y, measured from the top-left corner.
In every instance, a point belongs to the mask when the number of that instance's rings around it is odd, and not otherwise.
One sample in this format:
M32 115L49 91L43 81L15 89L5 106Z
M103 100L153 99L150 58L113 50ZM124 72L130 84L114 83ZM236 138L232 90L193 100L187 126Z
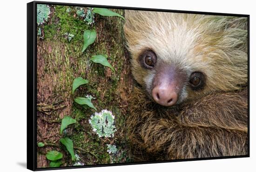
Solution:
M247 154L247 89L164 108L135 87L131 100L127 128L135 160Z

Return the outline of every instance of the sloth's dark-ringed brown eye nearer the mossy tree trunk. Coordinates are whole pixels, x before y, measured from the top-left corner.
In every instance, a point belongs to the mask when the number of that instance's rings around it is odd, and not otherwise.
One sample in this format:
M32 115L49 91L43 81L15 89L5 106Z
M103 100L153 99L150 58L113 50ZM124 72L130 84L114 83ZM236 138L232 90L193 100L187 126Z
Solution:
M155 66L156 55L153 51L144 51L140 56L141 66L144 68L151 69Z

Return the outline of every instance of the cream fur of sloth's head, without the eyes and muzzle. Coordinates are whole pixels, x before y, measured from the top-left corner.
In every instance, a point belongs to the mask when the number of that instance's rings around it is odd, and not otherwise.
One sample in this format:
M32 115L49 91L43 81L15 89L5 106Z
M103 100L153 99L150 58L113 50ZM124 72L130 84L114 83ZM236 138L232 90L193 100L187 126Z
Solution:
M193 91L185 83L178 103L247 83L247 18L133 10L126 10L125 18L133 75L149 93L156 71L138 62L145 49L155 52L157 63L185 70L188 78L194 71L205 74L204 89Z

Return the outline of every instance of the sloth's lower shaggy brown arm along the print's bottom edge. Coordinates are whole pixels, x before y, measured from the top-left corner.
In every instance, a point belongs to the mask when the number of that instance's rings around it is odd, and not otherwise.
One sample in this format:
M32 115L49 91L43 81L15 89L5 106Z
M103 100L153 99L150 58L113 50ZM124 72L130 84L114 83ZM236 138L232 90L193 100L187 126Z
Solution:
M247 134L217 127L184 127L172 120L147 121L141 127L143 148L164 159L247 154ZM158 153L158 155L157 155Z

